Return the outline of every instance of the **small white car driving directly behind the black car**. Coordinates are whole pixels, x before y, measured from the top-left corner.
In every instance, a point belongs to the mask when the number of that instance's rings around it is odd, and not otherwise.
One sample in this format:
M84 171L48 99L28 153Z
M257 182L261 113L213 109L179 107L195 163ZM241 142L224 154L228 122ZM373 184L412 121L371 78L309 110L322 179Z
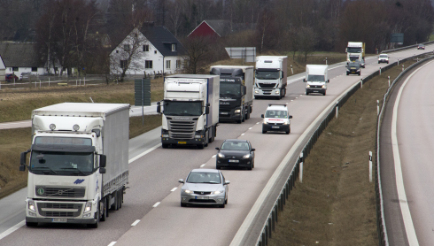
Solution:
M290 119L292 119L292 115L290 115L286 104L268 104L265 115L262 114L260 117L264 118L262 134L266 134L268 131L285 132L287 135L291 133Z

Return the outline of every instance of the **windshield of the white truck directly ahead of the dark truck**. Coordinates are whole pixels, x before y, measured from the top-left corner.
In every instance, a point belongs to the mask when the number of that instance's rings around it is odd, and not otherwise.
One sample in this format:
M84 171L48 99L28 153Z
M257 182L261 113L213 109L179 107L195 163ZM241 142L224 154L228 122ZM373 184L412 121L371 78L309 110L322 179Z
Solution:
M202 114L202 102L165 101L164 114L174 116L198 116Z

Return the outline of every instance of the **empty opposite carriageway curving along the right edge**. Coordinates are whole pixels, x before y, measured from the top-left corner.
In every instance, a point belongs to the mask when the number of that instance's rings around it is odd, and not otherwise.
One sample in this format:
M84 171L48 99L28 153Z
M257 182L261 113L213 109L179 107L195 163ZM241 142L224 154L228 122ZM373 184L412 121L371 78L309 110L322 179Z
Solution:
M434 62L401 80L387 105L380 148L390 245L434 242L431 96Z

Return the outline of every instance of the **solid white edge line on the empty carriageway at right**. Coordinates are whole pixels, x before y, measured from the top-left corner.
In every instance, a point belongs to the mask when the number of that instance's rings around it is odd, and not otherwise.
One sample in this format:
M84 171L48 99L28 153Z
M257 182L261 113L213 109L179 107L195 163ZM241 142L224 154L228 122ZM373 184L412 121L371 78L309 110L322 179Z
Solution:
M432 61L425 65L429 65ZM417 236L415 232L415 225L413 225L413 219L411 218L410 207L408 206L406 188L404 187L404 178L402 176L402 167L401 167L401 159L399 157L399 146L398 146L398 135L397 135L397 121L398 121L398 107L399 107L399 99L402 95L402 91L407 85L407 82L411 77L419 69L424 67L422 65L415 72L411 73L406 81L402 84L401 88L399 88L398 96L396 97L395 105L393 106L393 115L391 118L391 146L393 150L393 159L395 164L395 180L396 180L396 188L398 191L398 199L399 199L399 207L401 209L402 219L404 220L404 227L406 228L406 234L409 245L419 245L417 241Z

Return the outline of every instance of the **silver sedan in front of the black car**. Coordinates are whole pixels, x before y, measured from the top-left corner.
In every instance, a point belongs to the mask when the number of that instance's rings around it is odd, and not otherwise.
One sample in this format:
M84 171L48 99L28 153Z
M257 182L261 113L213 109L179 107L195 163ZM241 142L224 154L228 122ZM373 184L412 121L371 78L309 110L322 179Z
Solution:
M228 185L223 173L215 169L193 169L183 181L181 189L181 206L187 204L219 205L228 204Z

